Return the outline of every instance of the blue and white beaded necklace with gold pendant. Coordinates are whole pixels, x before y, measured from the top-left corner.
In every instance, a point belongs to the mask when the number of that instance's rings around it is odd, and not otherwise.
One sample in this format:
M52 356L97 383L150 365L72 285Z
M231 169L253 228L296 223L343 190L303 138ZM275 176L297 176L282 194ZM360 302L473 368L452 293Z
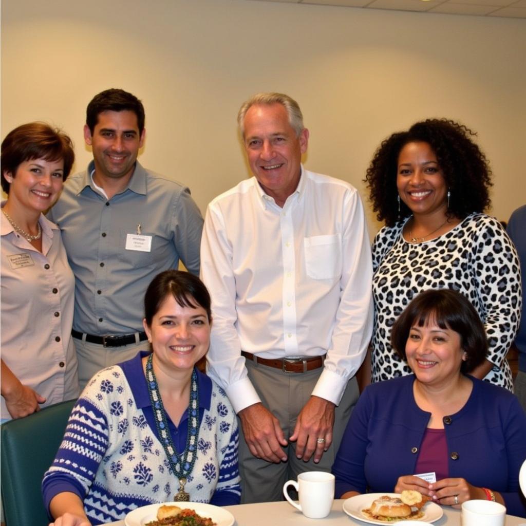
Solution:
M197 386L197 372L195 368L192 371L190 402L188 404L188 435L186 437L185 450L179 456L175 449L174 442L171 439L166 411L159 393L157 379L155 378L154 368L151 362L152 357L153 355L150 355L146 361L146 385L148 386L151 407L154 410L155 425L157 427L157 433L163 443L163 448L168 457L170 467L179 479L179 491L174 495L174 500L188 502L190 500L190 495L185 491L185 484L188 475L194 468L197 457L196 444L199 435L199 427L197 425L199 420L199 389Z

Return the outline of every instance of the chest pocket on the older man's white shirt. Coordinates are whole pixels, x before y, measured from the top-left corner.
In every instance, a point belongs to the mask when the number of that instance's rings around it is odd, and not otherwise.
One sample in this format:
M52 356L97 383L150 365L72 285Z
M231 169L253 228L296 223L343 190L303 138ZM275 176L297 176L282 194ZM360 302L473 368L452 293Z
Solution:
M334 279L341 275L341 234L304 239L305 269L313 279Z

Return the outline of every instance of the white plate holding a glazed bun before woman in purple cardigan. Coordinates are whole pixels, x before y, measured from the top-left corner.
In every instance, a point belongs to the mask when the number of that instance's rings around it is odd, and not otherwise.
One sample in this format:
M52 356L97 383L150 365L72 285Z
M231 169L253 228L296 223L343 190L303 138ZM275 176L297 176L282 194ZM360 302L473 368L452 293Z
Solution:
M343 511L350 517L370 524L418 520L438 521L444 514L442 508L418 491L399 493L365 493L343 502Z

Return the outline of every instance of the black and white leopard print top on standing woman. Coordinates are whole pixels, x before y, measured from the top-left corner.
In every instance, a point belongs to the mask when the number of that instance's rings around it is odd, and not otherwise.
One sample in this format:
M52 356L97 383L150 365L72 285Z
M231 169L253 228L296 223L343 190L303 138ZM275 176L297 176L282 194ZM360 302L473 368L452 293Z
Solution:
M420 244L403 239L406 220L383 227L375 237L372 381L411 374L391 348L391 327L419 292L449 288L469 298L488 336L492 370L484 378L513 392L505 359L521 312L517 252L497 219L471 214L446 234Z

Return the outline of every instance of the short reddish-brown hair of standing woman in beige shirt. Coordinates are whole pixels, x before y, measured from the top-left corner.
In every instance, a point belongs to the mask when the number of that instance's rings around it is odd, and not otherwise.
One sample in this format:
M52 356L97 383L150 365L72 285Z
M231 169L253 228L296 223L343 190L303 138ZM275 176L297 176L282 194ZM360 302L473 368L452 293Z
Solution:
M64 161L65 181L75 161L75 151L72 140L58 128L52 128L46 123L35 122L18 126L10 131L2 141L1 184L6 194L9 194L11 183L4 173L15 177L21 163L33 159L47 161Z

